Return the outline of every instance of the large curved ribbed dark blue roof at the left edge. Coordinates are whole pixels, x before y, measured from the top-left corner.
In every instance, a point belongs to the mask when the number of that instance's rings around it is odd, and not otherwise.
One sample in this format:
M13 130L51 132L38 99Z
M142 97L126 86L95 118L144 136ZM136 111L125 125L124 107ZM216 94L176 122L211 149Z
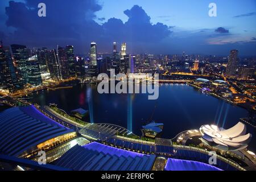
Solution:
M32 105L7 109L0 118L0 154L10 156L19 156L48 139L73 132Z

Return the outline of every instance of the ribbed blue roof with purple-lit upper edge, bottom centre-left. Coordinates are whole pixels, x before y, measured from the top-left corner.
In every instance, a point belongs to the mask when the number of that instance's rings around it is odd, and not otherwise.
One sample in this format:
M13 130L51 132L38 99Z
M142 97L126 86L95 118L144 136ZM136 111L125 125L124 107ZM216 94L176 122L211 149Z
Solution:
M74 146L54 164L76 171L149 171L154 161L155 155L137 154L93 142L83 147Z

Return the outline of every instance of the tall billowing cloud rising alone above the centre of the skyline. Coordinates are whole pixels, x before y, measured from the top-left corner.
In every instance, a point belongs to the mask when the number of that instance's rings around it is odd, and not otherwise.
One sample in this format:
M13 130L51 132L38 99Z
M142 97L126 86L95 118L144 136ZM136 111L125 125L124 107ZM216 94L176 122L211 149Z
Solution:
M104 43L126 42L129 52L141 53L154 50L155 44L171 35L171 27L163 23L152 24L150 16L141 6L135 5L130 10L123 11L128 16L127 22L110 18L102 24ZM155 50L154 50L155 51Z

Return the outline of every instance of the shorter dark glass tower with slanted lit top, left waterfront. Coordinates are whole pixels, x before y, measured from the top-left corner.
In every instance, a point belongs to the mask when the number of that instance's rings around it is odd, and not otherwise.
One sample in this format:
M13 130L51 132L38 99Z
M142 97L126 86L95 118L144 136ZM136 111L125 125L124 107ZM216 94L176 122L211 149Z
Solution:
M31 56L27 59L27 76L28 84L31 84L33 86L42 85L38 55Z

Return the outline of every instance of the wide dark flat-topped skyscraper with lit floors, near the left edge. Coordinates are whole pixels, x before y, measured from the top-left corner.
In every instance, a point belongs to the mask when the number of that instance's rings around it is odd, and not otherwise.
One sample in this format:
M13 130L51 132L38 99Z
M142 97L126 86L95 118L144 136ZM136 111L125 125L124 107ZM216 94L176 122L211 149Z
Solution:
M11 50L13 51L15 65L18 71L18 81L26 84L28 82L26 61L29 57L27 47L13 44L11 45Z

